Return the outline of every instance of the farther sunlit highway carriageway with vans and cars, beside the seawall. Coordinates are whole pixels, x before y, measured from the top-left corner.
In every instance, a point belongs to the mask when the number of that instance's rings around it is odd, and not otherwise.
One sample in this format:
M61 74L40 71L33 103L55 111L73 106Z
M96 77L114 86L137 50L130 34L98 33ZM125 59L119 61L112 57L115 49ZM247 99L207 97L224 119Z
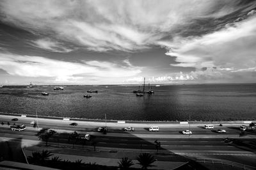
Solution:
M32 127L33 125L30 124L33 118L20 118L16 121L9 121L11 118L2 117L0 115L0 122L4 122L4 124L7 124L7 122L10 122L10 124L25 124L27 127ZM39 127L40 128L47 128L51 127L51 129L63 129L67 131L79 131L79 132L95 132L97 131L98 127L104 127L104 124L102 122L96 124L95 122L78 122L77 126L70 126L70 121L63 121L63 120L40 120ZM112 125L112 126L111 126ZM150 125L144 124L144 127L138 126L137 124L134 124L133 126L135 128L136 134L145 134L148 132L148 134L181 134L182 131L185 131L189 129L189 125L180 125L180 124L174 124L174 125L164 125L163 127L159 127L159 132L149 132L148 127ZM108 124L108 132L111 133L133 133L133 132L124 132L124 127L127 127L127 124ZM237 134L241 131L239 131L239 125L224 125L223 127L220 127L218 125L215 126L215 130L210 129L204 129L203 125L191 125L190 129L193 132L193 134L205 134L205 135L221 135L216 133L216 129L224 129L227 131L227 134Z

